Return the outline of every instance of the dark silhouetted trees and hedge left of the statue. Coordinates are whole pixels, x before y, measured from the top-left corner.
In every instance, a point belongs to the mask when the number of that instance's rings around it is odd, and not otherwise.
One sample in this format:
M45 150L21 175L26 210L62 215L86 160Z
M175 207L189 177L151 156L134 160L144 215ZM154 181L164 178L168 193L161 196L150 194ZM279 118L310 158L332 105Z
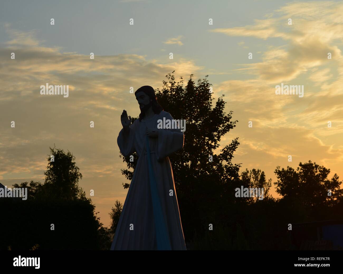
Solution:
M0 249L109 249L109 230L78 186L75 157L55 147L50 152L44 184L14 184L28 188L26 200L0 198Z

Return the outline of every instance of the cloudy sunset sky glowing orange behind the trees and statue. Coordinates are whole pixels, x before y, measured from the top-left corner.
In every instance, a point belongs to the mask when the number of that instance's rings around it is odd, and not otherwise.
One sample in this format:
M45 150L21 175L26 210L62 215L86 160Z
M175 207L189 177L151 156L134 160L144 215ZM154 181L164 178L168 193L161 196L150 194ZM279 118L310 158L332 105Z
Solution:
M185 82L209 75L214 97L225 94L238 123L221 147L239 137L241 171L275 182L276 166L311 160L342 180L342 49L342 1L1 1L0 183L44 182L55 144L75 156L79 185L94 190L109 226L128 191L120 114L140 113L130 87L161 89L173 70ZM41 95L46 83L69 85L69 97ZM304 97L276 95L281 83L303 85Z

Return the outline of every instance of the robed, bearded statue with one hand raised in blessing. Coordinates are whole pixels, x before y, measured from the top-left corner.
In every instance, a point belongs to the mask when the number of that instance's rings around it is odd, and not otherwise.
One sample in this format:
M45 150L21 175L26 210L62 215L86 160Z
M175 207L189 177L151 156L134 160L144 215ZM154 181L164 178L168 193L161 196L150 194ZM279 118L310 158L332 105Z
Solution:
M111 250L186 250L168 158L184 146L184 133L157 127L161 120L174 119L158 104L152 87L139 88L135 96L141 114L130 125L123 110L117 143L124 156L136 152L139 158Z

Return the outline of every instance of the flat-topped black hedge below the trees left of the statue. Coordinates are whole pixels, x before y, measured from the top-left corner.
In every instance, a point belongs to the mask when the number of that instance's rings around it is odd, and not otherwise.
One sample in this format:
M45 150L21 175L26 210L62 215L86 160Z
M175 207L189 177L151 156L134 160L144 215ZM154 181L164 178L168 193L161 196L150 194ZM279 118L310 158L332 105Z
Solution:
M94 218L94 207L84 200L49 201L0 199L3 223L0 249L105 249ZM54 230L50 230L54 224Z

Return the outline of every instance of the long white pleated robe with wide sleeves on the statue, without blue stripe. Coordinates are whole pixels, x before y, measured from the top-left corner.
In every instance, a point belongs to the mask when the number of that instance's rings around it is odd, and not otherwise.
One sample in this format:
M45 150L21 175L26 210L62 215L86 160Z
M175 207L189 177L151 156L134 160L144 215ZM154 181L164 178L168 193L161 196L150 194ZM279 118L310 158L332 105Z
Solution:
M139 119L135 120L130 126L129 136L125 139L123 138L123 129L119 132L117 143L121 153L129 156L133 152L137 152L139 158L111 250L157 250L145 132L146 129L157 130L157 120L163 120L163 117L166 120L173 120L168 112L162 111L149 120L144 118L141 122ZM149 138L152 169L161 201L162 214L165 218L166 237L169 238L171 250L187 250L173 171L168 158L168 155L182 149L183 146L184 133L180 129L159 129L158 138ZM170 193L173 195L170 196Z

